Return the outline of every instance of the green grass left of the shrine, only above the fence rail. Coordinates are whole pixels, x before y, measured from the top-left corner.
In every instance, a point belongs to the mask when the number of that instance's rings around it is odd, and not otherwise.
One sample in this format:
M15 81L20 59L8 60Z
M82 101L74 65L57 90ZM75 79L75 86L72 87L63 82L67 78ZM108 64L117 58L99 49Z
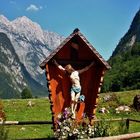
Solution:
M28 107L31 101L33 106ZM7 120L27 121L50 120L51 111L48 99L3 100Z

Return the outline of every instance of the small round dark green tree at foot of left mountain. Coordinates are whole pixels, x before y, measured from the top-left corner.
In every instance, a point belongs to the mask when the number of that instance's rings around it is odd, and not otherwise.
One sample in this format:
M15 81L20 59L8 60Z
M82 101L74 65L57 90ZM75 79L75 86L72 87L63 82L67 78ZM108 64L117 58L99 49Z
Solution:
M23 91L21 92L21 98L22 99L32 98L31 90L27 87L24 88Z

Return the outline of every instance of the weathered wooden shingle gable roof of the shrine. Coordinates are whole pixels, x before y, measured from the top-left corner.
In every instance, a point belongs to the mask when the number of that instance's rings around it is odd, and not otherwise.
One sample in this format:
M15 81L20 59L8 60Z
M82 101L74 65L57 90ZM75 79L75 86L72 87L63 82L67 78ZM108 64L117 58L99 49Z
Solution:
M103 57L96 51L96 49L89 43L89 41L84 37L84 35L79 31L79 29L75 29L72 34L70 34L41 64L40 67L42 69L45 68L46 64L49 60L57 54L57 52L75 35L78 35L91 49L91 51L95 54L96 58L105 66L106 69L110 69L110 65L103 59Z

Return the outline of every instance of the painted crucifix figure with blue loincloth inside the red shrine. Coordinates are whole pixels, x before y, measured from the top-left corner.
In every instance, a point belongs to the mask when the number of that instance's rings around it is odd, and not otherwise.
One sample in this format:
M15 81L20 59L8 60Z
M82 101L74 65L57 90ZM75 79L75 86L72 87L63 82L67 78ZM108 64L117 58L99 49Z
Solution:
M79 45L72 42L72 49L71 49L72 61L71 62L74 62L74 61L76 61L78 59L78 51L77 51L78 49L79 49ZM61 71L66 73L67 76L70 78L70 81L71 81L71 89L70 89L70 94L71 94L71 111L72 111L72 118L75 119L76 118L75 111L77 109L78 100L79 101L84 101L84 98L85 98L84 95L81 95L82 87L81 87L80 76L79 75L81 73L87 71L90 67L92 67L94 62L90 63L90 65L88 65L88 66L86 66L86 67L84 67L82 69L79 69L79 70L74 69L70 63L67 63L67 65L65 67L60 65L56 60L53 60L53 63Z

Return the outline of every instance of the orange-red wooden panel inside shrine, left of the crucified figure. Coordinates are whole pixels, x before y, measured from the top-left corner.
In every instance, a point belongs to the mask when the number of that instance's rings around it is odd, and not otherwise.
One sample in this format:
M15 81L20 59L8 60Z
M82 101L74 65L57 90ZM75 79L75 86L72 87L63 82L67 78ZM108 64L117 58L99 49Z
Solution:
M49 66L52 113L54 121L65 107L70 106L70 81L56 66Z

